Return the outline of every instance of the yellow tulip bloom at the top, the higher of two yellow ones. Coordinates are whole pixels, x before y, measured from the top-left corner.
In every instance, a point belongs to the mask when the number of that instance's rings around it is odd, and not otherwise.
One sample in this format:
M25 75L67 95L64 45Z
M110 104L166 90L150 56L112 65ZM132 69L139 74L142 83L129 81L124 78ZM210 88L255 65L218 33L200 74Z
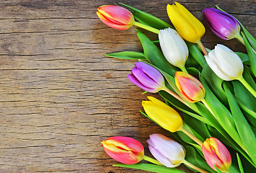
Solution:
M205 34L206 28L203 24L181 4L168 4L167 13L175 29L185 40L198 43Z

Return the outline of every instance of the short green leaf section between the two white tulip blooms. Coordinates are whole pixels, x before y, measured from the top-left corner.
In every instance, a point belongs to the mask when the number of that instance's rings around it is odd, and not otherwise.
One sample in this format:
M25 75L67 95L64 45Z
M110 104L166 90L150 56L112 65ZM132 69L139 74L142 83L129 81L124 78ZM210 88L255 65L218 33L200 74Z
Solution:
M206 65L206 59L204 58L204 56L202 55L202 53L200 52L200 50L197 48L197 46L193 43L189 43L186 41L187 44L187 48L190 51L190 55L196 60L198 61L198 63L200 64L201 67Z

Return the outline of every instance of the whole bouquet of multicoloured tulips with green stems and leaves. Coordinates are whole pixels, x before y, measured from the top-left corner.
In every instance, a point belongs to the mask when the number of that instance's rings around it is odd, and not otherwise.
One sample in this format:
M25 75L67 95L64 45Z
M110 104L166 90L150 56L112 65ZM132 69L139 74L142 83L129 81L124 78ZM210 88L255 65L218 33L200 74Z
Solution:
M145 115L172 133L173 141L159 133L147 141L155 159L133 138L114 136L102 141L118 167L149 172L256 172L256 40L237 19L218 6L203 10L208 27L219 37L237 38L247 54L217 44L205 48L206 30L184 6L167 5L172 25L126 4L98 8L106 25L127 30L136 25L159 36L151 41L137 29L144 53L123 51L106 56L136 59L128 75L144 93L158 93L143 101ZM135 21L135 19L137 21ZM174 109L175 108L175 109ZM179 112L177 112L178 110ZM151 164L139 163L141 160Z

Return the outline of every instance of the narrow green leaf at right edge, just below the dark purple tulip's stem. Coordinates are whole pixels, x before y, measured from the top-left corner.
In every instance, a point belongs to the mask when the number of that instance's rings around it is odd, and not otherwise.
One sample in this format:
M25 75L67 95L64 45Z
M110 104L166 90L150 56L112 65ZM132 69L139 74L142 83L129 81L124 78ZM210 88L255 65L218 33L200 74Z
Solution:
M244 38L244 45L247 50L249 61L250 61L250 67L252 69L252 73L256 76L256 52L252 49L249 41L247 40L247 37L245 37L244 33L242 33L242 37Z

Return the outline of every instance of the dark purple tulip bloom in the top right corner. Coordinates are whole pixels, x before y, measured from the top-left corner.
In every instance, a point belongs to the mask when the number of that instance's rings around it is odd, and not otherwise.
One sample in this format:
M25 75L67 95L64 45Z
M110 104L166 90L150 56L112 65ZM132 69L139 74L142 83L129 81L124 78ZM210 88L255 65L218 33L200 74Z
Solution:
M204 9L203 18L210 29L224 40L230 40L239 35L239 22L226 12L214 8Z

